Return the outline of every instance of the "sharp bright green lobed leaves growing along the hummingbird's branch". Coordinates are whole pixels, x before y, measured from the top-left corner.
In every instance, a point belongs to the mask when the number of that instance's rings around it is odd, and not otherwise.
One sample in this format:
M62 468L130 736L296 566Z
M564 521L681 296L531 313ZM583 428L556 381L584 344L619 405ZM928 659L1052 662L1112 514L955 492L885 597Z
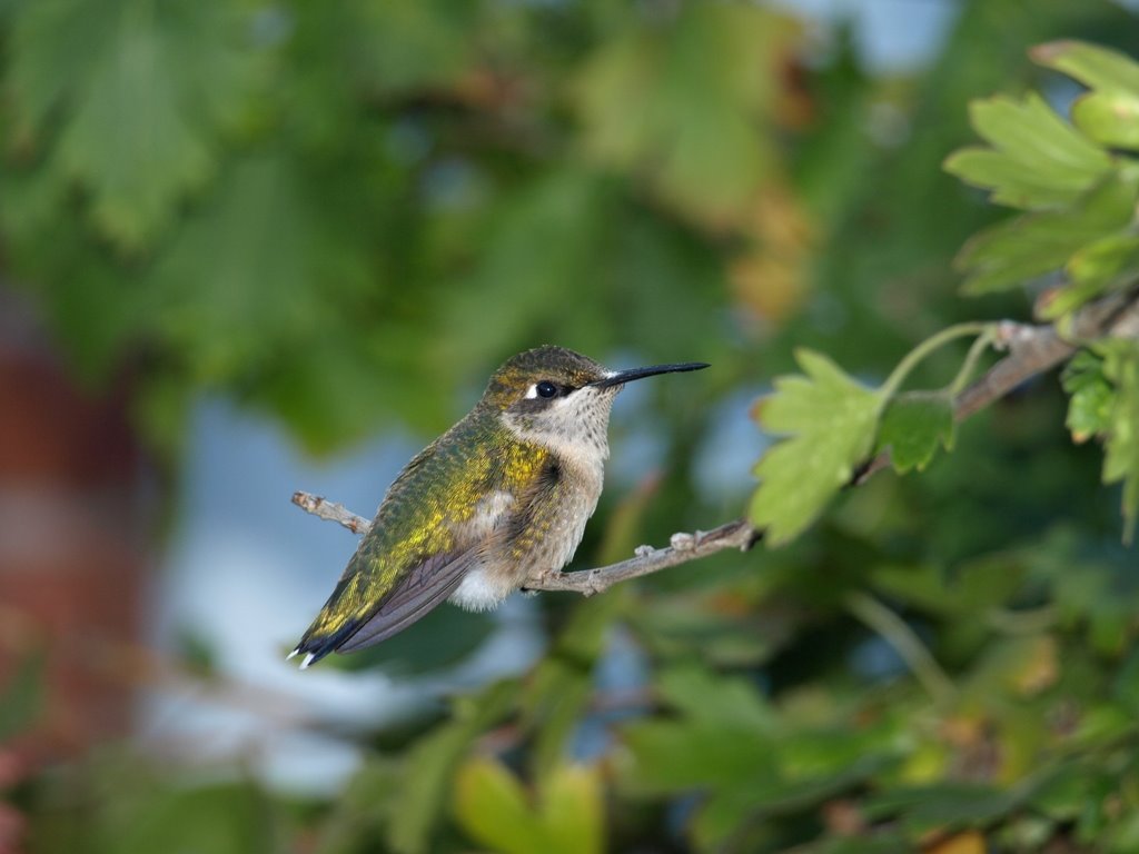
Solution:
M1139 287L1139 161L1132 124L1139 104L1139 63L1082 42L1044 44L1036 61L1088 87L1072 106L1072 124L1038 93L975 101L973 125L988 143L953 154L945 169L991 190L991 198L1024 213L973 238L958 256L965 290L1019 288L1047 273L1062 274L1041 301L1058 328L1090 299ZM949 332L950 330L947 330ZM772 544L801 533L868 462L871 447L888 452L896 471L925 468L939 445L953 444L953 396L969 378L981 331L958 378L939 392L898 394L912 369L943 343L945 332L917 347L878 389L845 375L818 353L800 353L803 376L776 380L756 408L768 433L788 438L755 467L760 486L751 520ZM952 336L950 336L952 337ZM1077 441L1105 444L1103 481L1123 484L1124 540L1139 517L1139 445L1134 442L1139 386L1133 336L1076 342L1100 353L1081 355L1065 383L1072 394L1068 424Z

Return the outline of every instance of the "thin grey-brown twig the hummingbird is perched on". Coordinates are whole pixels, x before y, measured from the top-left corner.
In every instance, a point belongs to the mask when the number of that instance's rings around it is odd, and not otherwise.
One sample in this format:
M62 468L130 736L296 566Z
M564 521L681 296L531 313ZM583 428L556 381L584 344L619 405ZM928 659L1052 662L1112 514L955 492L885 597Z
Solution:
M998 327L993 346L1007 351L999 362L966 387L956 399L953 417L964 421L1000 400L1031 377L1043 373L1071 358L1082 342L1104 336L1139 338L1139 293L1121 293L1104 297L1077 312L1067 335L1054 326L1034 326L1005 321ZM851 481L852 486L866 483L876 471L890 466L884 452L869 460ZM305 512L336 522L355 534L366 534L371 523L342 504L308 492L293 493L293 503ZM749 523L736 519L712 531L673 534L667 547L641 545L636 555L620 564L577 572L549 572L528 578L523 585L530 591L566 591L592 596L630 578L687 564L724 549L747 551L763 537Z

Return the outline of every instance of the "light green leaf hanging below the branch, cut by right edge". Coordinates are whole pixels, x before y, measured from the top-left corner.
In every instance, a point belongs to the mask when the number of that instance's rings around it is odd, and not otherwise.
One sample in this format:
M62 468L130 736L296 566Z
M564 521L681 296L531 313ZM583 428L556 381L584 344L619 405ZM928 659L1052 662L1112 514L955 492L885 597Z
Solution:
M1104 483L1123 484L1123 541L1131 542L1139 516L1139 342L1101 345L1104 376L1115 387L1106 432Z

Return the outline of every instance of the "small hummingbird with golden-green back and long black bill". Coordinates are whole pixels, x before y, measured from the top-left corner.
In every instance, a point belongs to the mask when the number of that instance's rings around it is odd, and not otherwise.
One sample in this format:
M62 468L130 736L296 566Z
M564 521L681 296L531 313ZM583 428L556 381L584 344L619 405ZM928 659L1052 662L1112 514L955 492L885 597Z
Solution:
M572 350L508 359L458 424L399 474L301 642L302 670L379 643L450 599L487 610L573 558L601 495L613 399L644 377Z

